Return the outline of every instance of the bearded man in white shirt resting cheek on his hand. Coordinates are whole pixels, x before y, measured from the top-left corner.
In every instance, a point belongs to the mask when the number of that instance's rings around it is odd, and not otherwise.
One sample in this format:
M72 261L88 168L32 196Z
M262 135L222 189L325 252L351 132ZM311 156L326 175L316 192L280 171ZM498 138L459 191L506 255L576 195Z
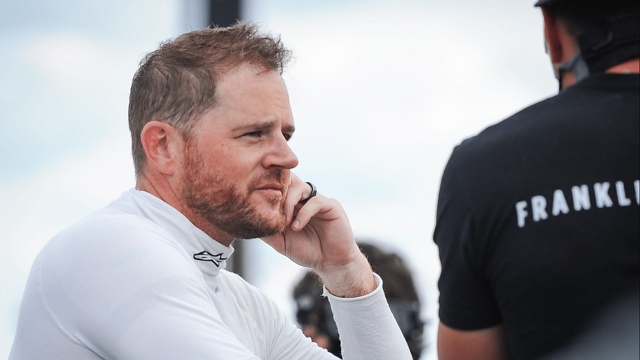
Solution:
M335 359L223 270L232 241L257 237L323 280L346 359L411 358L340 204L290 171L288 59L247 24L148 54L136 188L38 255L10 359Z

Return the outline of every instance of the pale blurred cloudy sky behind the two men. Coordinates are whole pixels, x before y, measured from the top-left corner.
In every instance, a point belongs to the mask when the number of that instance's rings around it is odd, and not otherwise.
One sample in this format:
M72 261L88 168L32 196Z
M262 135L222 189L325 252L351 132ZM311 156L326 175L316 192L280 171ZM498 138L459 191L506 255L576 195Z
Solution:
M407 261L427 323L421 359L436 359L440 176L463 138L557 91L540 10L534 0L228 3L0 0L0 359L38 251L134 186L138 61L225 7L294 52L284 74L294 171L340 200L356 236ZM241 263L294 320L305 270L259 240L244 243Z

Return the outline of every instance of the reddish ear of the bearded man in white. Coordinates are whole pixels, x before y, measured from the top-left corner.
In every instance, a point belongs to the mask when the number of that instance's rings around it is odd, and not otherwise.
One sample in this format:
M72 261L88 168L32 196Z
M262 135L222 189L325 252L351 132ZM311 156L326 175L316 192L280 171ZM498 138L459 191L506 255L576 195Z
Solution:
M183 141L175 127L161 121L145 124L140 135L147 153L147 166L165 175L173 175L182 156Z

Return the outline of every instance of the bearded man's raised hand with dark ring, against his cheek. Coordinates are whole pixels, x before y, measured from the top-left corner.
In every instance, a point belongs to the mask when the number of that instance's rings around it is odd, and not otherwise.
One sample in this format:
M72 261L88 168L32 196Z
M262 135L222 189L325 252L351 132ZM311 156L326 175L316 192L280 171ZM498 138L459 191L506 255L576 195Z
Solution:
M342 206L319 193L301 203L310 192L307 183L291 174L285 229L262 240L298 265L312 268L335 296L358 297L375 290L371 266L356 245Z

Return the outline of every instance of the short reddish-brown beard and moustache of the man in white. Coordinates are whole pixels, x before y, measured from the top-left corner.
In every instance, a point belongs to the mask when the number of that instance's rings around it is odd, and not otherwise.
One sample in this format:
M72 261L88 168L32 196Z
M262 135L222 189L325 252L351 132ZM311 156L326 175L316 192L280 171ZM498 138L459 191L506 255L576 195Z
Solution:
M280 198L269 199L277 210L271 215L260 213L250 201L253 189L258 188L260 184L284 184L286 174L283 170L269 170L266 176L255 177L242 192L206 168L195 147L186 144L185 154L181 195L189 208L237 239L261 238L284 230L284 193Z

